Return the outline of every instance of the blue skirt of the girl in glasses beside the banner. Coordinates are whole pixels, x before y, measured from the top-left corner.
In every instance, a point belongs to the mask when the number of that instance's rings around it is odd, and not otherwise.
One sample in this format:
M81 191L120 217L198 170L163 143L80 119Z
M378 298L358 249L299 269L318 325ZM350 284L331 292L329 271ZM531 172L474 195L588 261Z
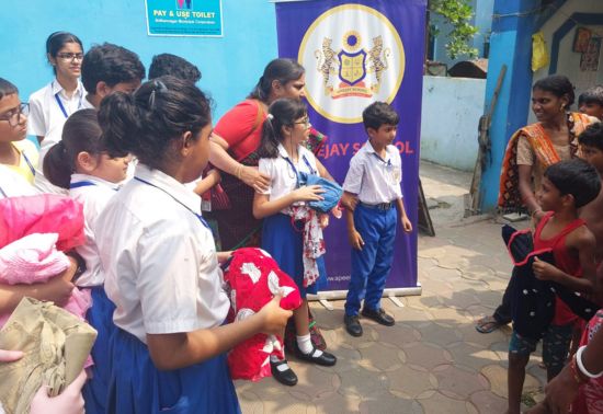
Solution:
M278 212L266 217L262 226L262 249L269 252L278 263L278 267L295 280L302 298L306 298L307 294L316 295L319 289L327 286L327 268L325 255L318 257L316 261L318 280L304 287L303 231L304 221L292 222L291 216Z

